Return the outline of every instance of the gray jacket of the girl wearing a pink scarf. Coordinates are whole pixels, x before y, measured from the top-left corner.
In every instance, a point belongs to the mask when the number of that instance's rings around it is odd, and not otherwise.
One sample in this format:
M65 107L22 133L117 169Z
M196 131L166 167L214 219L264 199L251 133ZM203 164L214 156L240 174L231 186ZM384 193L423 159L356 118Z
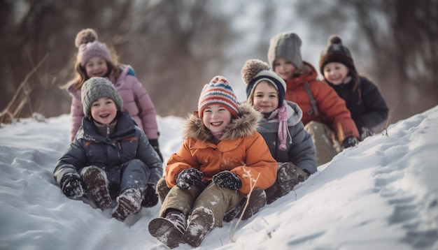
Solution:
M302 110L297 103L288 103L288 138L286 139L287 149L278 149L280 140L278 138L278 117L272 119L263 118L257 128L262 134L274 159L277 162L291 162L298 168L313 174L318 164L315 159L315 145L311 135L304 130L301 122Z

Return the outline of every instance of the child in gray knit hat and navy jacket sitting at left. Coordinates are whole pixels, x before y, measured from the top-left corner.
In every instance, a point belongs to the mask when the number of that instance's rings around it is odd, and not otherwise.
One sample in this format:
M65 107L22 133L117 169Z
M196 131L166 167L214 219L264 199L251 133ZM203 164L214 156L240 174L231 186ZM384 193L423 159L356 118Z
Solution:
M100 209L116 199L113 217L124 221L141 205L153 207L162 161L105 78L90 78L81 88L83 124L53 175L69 198L85 196ZM144 196L143 196L144 193Z

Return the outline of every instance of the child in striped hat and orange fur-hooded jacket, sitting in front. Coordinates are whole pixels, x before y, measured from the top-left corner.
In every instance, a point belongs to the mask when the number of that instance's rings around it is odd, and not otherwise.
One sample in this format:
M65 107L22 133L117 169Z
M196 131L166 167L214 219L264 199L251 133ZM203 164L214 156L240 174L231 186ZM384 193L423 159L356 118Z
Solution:
M251 186L267 189L277 163L260 133L260 113L239 104L227 79L216 76L204 86L198 112L188 117L183 145L167 161L171 188L160 218L149 232L167 247L197 247L226 212L238 206ZM187 220L188 217L188 220Z

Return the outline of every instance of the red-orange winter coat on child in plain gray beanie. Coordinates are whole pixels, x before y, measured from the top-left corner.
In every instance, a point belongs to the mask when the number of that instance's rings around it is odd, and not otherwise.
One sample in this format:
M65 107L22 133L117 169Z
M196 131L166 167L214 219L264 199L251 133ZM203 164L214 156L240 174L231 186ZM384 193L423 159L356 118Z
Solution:
M345 101L326 82L317 79L318 73L311 64L306 61L303 63L304 67L308 67L310 70L297 78L286 81L285 99L297 103L299 108L303 110L302 122L304 125L311 121L322 122L337 133L339 142L350 136L360 138L358 128L351 119ZM309 82L311 94L316 100L318 115L311 112L312 105L304 88L306 82Z

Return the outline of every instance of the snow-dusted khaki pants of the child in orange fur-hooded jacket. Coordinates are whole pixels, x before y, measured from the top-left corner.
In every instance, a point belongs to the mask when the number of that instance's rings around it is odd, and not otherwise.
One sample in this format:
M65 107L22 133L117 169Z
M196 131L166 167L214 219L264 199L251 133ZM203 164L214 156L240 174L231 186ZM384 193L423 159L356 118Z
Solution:
M157 190L160 188L158 185L162 185L162 179L157 184ZM187 190L174 186L164 198L160 217L164 217L169 208L178 209L189 216L197 207L205 207L213 212L214 226L221 227L225 213L239 205L244 198L239 191L221 188L211 181L190 186Z

